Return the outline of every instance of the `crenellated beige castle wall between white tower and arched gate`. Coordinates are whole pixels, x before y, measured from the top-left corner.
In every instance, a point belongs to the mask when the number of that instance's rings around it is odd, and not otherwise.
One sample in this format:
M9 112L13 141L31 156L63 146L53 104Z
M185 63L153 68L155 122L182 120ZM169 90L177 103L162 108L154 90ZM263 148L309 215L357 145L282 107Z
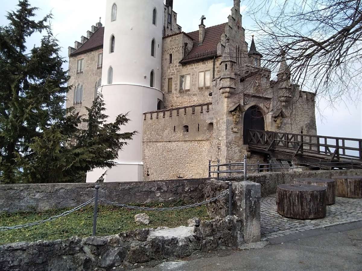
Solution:
M145 180L207 177L208 161L213 158L211 104L144 115ZM184 130L185 125L188 132Z

